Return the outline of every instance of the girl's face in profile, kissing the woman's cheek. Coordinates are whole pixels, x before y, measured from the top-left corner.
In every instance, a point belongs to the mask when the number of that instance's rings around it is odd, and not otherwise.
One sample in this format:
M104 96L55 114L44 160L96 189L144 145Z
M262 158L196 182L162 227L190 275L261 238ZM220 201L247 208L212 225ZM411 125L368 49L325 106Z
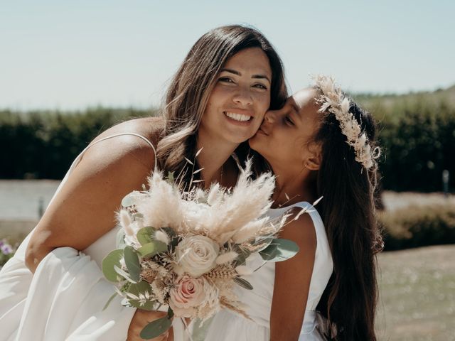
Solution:
M271 164L311 169L317 153L314 135L321 124L316 90L307 88L289 97L284 107L265 114L264 122L249 143Z

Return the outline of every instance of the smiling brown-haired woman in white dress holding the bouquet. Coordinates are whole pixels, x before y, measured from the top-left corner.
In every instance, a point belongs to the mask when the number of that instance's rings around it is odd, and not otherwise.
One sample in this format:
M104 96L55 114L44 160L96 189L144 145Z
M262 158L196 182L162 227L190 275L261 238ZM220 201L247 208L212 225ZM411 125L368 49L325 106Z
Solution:
M178 174L202 147L204 185L235 185L230 155L245 158L245 141L286 97L281 60L261 33L223 26L202 36L171 82L164 119L127 121L92 141L1 270L0 340L139 340L146 320L162 313L119 298L102 310L114 291L100 264L115 249L122 197L141 190L155 157Z

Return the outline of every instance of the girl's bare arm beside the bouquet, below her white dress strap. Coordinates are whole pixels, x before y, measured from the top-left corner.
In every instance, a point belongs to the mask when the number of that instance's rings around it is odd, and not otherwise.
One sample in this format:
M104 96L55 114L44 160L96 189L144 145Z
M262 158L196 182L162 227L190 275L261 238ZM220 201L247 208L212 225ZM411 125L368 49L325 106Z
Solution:
M280 238L296 242L300 251L275 265L270 340L296 341L304 320L316 252L316 232L311 217L304 214L287 224Z

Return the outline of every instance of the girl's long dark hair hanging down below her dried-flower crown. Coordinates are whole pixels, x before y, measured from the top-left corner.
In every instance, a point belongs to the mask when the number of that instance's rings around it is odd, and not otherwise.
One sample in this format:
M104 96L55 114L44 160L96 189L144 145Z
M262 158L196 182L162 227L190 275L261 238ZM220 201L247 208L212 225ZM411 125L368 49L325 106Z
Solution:
M350 110L375 147L372 115L350 101ZM316 308L319 328L328 340L377 340L374 322L378 302L376 256L382 238L375 217L377 166L355 161L334 114L323 114L316 142L322 146L317 175L318 207L333 258L333 274Z

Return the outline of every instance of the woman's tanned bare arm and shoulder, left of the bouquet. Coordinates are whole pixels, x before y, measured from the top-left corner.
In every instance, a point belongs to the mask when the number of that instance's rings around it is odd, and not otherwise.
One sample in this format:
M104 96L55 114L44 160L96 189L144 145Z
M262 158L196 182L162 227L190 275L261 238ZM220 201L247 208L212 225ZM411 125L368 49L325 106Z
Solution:
M109 133L116 134L102 136ZM28 269L34 272L57 247L83 250L112 229L124 195L141 190L153 168L154 151L137 136L116 136L88 148L38 222L26 250Z

